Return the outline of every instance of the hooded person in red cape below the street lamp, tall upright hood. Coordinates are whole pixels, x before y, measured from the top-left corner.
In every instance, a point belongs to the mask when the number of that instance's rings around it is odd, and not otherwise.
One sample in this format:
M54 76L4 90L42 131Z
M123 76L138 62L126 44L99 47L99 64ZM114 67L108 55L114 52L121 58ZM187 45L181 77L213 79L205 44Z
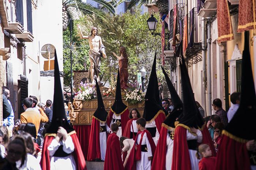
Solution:
M146 129L150 132L155 145L157 145L159 139L159 133L161 130L161 125L165 120L165 115L167 115L165 109L161 105L158 80L156 72L156 57L155 53L154 62L148 81L147 92L145 95L145 107L143 112L143 118L146 120Z

